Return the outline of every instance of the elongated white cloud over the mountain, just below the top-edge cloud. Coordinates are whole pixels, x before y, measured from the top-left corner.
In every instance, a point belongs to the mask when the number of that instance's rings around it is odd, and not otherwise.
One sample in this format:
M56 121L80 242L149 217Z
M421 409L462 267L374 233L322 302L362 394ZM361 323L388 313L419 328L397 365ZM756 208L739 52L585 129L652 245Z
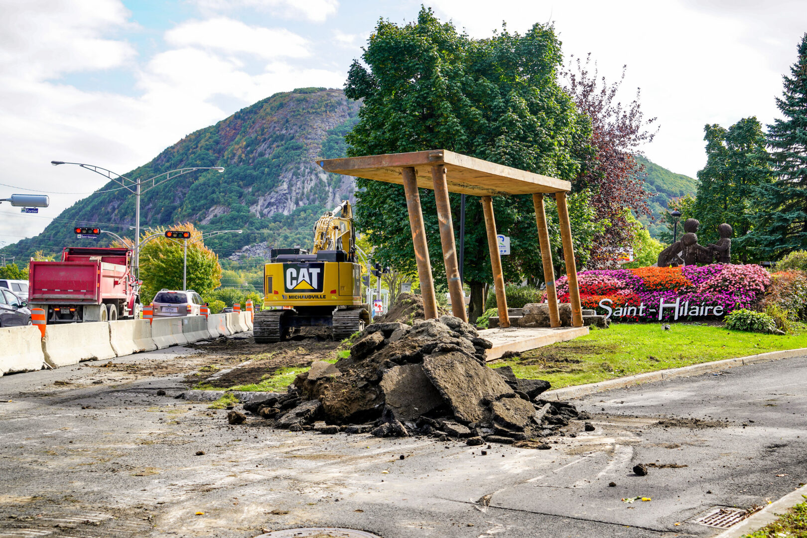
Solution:
M225 17L187 21L165 32L165 41L175 47L244 52L262 58L304 58L311 55L307 40L285 28L253 27Z

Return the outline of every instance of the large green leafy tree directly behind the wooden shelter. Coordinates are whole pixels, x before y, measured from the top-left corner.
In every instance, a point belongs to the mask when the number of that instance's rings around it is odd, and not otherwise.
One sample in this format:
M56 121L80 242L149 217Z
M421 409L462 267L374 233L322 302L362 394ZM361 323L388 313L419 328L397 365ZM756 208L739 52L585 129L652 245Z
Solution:
M558 85L562 56L552 27L536 24L524 35L503 31L473 40L429 9L399 26L380 20L362 55L349 70L345 94L363 99L359 122L346 140L349 155L447 149L502 165L573 180L592 154L591 123ZM415 267L403 187L359 180L358 226L378 256L406 271ZM598 224L590 194L570 197L579 265ZM433 191L421 190L426 235L436 282L445 282ZM455 232L459 195L451 196ZM504 256L509 280L542 278L530 196L495 197L496 227L511 236ZM556 219L554 212L548 215ZM558 227L550 224L555 260ZM491 282L482 207L469 197L466 210L465 281L471 289L471 319L483 310Z

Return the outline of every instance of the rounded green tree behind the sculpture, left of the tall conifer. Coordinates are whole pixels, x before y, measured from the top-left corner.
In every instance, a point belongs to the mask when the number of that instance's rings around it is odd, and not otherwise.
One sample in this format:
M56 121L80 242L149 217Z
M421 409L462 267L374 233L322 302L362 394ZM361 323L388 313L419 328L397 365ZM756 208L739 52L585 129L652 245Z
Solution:
M717 227L729 223L734 231L731 256L746 263L755 259L750 235L760 187L771 183L770 156L762 125L744 118L728 129L704 127L706 165L698 172L694 213L700 221L700 244L720 239Z

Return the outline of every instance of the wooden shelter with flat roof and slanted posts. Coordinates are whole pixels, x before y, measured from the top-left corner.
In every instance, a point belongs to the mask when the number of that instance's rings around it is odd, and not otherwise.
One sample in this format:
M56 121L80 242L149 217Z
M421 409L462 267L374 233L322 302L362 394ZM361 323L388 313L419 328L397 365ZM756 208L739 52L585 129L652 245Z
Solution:
M491 197L503 194L532 194L533 206L535 207L535 222L538 228L538 243L541 248L541 261L543 262L546 278L550 324L552 327L560 327L558 294L555 290L550 236L546 227L546 213L544 211L544 194L554 194L560 219L563 257L566 261L566 272L569 277L572 325L575 327L583 326L583 316L580 311L580 293L577 285L577 269L575 267L575 252L571 243L571 227L566 202L566 194L571 190L569 181L541 176L537 173L525 172L509 166L497 165L490 161L483 161L482 159L449 152L444 149L328 159L317 161L317 164L326 172L403 185L409 212L409 225L412 227L412 243L415 247L417 276L420 279L420 293L423 295L426 319L437 318L437 300L434 292L432 266L429 261L429 248L426 245L426 231L418 188L434 190L434 198L437 202L437 220L440 223L443 261L451 296L451 310L454 316L465 321L467 321L465 294L462 292L462 282L460 282L459 278L449 192L472 194L482 198L485 227L487 228L487 246L491 254L491 268L493 269L500 327L510 327L510 319L507 310L507 298L504 295L504 277L502 276L501 258L496 241L496 223Z

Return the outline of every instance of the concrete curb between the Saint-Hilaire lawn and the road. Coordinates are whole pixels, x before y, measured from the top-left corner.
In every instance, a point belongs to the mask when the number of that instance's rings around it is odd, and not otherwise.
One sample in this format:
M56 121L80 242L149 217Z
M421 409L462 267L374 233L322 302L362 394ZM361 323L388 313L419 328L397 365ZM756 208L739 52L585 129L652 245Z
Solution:
M789 359L804 355L807 355L807 348L771 351L767 353L759 353L759 355L749 355L748 357L736 357L734 359L723 359L722 361L705 362L700 365L682 366L681 368L659 370L657 372L638 373L628 377L619 377L618 379L609 379L608 381L589 383L588 385L567 386L563 387L562 389L547 390L545 393L541 394L541 398L558 400L580 398L581 396L595 394L604 390L624 389L628 386L637 386L642 385L643 383L665 381L675 377L700 375L701 373L713 372L723 368L754 365L759 362L779 361L780 359Z

